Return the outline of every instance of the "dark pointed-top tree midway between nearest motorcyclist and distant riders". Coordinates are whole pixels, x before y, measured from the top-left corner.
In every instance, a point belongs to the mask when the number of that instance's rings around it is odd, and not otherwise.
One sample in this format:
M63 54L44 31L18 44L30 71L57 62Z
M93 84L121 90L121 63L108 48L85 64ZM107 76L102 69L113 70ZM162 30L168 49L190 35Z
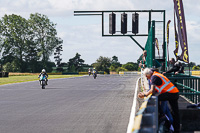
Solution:
M79 53L76 53L75 57L69 59L68 71L80 72L82 70L82 66L85 61L83 59L81 59L80 57L81 57L81 55Z

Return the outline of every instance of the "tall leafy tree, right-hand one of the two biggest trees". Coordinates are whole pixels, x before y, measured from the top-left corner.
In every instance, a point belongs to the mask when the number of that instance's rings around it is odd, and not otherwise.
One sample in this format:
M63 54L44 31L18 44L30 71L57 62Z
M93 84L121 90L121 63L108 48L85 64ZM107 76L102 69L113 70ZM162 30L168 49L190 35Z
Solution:
M56 37L56 24L51 22L46 15L39 13L31 14L29 23L34 34L34 41L39 50L38 55L42 59L43 67L47 67L49 56L53 53L56 46L63 43L63 41Z

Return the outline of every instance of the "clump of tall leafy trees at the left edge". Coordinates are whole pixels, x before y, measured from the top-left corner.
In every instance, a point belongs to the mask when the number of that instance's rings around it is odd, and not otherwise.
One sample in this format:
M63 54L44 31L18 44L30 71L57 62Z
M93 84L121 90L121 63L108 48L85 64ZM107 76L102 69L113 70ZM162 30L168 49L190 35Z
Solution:
M40 60L42 68L50 67L49 56L62 40L56 37L55 24L47 16L36 13L26 20L14 14L5 15L0 27L1 64L14 62L15 70L20 72L38 71Z

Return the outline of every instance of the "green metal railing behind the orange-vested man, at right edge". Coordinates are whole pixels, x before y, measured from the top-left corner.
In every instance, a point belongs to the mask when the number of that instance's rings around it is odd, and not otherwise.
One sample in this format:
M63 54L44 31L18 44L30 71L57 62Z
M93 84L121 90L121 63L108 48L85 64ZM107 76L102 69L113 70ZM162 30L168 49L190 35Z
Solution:
M200 77L184 74L167 74L166 76L179 89L180 95L193 103L200 102Z

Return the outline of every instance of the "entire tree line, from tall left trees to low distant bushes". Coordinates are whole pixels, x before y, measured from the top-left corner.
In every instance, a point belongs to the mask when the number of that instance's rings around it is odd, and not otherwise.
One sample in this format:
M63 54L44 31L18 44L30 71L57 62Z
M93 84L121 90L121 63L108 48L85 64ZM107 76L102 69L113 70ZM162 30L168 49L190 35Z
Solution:
M116 56L100 56L95 63L84 64L79 53L67 63L50 62L50 56L63 40L57 36L56 24L46 15L35 13L25 19L20 15L5 14L0 19L0 27L0 64L4 71L35 73L45 68L47 72L52 72L52 67L57 64L57 71L64 71L65 67L67 72L81 72L88 67L106 73L138 69L137 63L122 65Z

